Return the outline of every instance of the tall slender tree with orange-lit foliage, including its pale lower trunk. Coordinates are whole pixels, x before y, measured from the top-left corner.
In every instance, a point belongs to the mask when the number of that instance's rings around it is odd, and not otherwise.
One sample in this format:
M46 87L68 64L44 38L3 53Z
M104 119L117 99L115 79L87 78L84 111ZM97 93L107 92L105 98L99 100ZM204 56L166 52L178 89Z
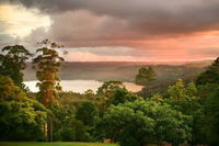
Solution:
M44 46L36 50L38 56L33 59L33 67L37 69L36 78L39 80L36 85L39 88L37 97L46 108L53 110L57 91L61 90L58 71L64 58L53 49L55 47L60 47L59 45L56 45L48 40L38 44ZM51 47L51 49L48 47ZM45 125L45 134L46 133L48 134L48 141L53 142L53 116L48 120L48 127Z

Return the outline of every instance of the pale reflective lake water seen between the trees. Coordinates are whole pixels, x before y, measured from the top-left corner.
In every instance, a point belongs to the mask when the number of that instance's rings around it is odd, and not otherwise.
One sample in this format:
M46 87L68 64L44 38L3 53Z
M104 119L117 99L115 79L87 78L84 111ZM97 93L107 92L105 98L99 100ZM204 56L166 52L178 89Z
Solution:
M38 88L36 87L36 80L24 81L24 85L26 85L32 92L37 92ZM83 93L89 89L96 92L97 88L101 87L103 82L96 80L61 80L60 85L64 91ZM126 88L132 92L137 92L142 89L141 86L135 85L132 82L124 82L124 86L126 86Z

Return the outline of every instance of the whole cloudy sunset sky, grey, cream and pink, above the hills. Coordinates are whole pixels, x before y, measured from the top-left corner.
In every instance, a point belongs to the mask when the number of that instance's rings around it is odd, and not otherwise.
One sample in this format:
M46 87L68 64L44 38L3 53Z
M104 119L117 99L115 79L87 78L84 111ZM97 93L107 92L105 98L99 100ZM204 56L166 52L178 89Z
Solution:
M0 0L0 46L49 38L69 61L219 56L219 0Z

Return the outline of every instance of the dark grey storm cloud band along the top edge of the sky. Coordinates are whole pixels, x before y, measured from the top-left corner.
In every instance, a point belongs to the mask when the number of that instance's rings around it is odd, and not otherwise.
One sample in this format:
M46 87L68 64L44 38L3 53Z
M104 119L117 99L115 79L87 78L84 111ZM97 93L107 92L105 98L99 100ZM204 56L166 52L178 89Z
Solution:
M4 1L5 2L5 1ZM126 20L145 35L185 34L219 29L218 0L10 0L55 13L88 10ZM116 23L116 22L115 22Z

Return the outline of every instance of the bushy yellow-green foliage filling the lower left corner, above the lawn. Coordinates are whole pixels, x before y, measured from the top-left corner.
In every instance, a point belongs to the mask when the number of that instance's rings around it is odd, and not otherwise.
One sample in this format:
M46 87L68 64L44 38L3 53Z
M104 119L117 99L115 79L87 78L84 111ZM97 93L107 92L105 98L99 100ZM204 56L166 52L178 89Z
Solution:
M38 101L28 99L8 77L0 76L0 139L44 139L47 112Z

